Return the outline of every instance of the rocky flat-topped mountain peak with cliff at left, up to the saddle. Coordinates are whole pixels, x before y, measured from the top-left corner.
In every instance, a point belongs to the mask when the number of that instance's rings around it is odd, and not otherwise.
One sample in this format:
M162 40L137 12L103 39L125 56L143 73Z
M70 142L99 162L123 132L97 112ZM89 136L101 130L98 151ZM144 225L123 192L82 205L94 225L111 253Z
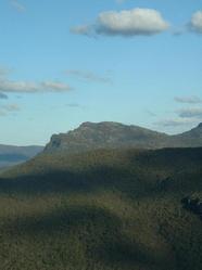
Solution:
M162 134L138 126L128 126L115 121L85 121L75 130L55 134L51 138L46 151L84 152L92 149L138 147L155 149L164 146L166 139ZM157 145L156 145L157 143Z

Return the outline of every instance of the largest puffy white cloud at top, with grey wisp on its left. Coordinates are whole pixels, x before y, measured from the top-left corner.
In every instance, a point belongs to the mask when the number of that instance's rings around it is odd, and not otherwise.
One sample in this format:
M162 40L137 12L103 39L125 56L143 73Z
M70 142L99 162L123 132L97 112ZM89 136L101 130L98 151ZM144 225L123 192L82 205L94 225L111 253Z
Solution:
M169 24L156 10L132 9L102 12L94 24L73 27L71 30L79 35L132 37L160 34L168 27Z

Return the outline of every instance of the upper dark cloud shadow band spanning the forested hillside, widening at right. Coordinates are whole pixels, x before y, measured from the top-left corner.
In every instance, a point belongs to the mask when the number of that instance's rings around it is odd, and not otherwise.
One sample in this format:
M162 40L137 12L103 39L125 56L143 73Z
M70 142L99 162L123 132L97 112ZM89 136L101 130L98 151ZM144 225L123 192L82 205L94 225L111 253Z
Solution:
M92 162L78 171L46 167L47 171L39 175L0 178L0 193L36 195L118 190L137 197L202 191L202 149L165 149L141 155L129 151L126 154L127 162L122 166Z

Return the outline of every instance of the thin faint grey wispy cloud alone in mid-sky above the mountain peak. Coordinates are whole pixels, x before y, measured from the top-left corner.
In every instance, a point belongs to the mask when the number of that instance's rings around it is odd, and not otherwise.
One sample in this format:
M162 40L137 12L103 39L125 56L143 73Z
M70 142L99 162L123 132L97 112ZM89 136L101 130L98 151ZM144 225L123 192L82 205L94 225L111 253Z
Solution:
M94 73L79 69L68 69L65 72L67 76L74 76L78 79L88 80L91 82L112 83L112 79L109 76L99 76Z

